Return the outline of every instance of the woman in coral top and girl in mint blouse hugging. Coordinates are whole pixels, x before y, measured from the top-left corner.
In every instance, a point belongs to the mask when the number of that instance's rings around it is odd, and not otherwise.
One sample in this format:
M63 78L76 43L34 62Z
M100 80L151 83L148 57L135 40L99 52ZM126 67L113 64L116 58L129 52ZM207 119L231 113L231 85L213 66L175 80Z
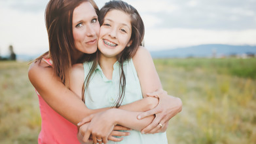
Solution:
M49 51L28 73L42 117L38 143L168 143L182 103L162 90L134 7L50 0L45 22Z

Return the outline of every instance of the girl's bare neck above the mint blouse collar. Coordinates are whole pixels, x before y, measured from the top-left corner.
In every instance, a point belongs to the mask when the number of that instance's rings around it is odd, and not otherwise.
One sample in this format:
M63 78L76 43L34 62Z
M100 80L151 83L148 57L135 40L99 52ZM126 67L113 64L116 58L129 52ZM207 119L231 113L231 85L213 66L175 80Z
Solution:
M105 77L109 80L112 79L113 70L114 70L113 65L115 64L115 62L117 62L117 58L115 57L108 58L103 56L103 54L100 53L100 58L99 58L100 67Z

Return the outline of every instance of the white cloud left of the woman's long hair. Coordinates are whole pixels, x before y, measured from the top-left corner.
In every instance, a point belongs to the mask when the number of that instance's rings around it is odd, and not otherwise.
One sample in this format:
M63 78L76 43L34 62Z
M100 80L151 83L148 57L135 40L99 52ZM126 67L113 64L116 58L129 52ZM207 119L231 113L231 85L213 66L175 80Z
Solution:
M2 7L0 17L1 55L9 53L9 45L14 46L16 54L38 54L48 49L44 12L33 14Z

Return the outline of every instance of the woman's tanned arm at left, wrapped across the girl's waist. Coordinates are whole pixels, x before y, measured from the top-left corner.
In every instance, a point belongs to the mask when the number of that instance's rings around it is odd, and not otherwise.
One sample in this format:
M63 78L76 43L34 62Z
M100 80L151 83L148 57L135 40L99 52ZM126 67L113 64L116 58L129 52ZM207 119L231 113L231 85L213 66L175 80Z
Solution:
M31 63L28 77L31 84L33 84L42 98L45 99L46 103L48 103L54 111L73 124L77 124L82 118L88 115L109 109L88 109L80 96L66 88L60 81L60 78L56 77L52 67L48 67L48 64L43 61ZM155 107L155 99L144 100L145 101L140 100L135 103L130 103L130 106L123 106L123 109L131 109L131 111L139 111L139 109L142 109L147 111ZM134 109L134 105L141 105L141 107Z

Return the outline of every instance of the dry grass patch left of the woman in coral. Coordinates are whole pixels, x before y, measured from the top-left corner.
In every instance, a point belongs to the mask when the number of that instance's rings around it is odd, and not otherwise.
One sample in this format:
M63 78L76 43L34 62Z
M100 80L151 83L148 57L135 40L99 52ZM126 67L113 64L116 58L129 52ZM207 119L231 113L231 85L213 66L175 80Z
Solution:
M37 143L41 116L27 63L0 62L0 143Z

